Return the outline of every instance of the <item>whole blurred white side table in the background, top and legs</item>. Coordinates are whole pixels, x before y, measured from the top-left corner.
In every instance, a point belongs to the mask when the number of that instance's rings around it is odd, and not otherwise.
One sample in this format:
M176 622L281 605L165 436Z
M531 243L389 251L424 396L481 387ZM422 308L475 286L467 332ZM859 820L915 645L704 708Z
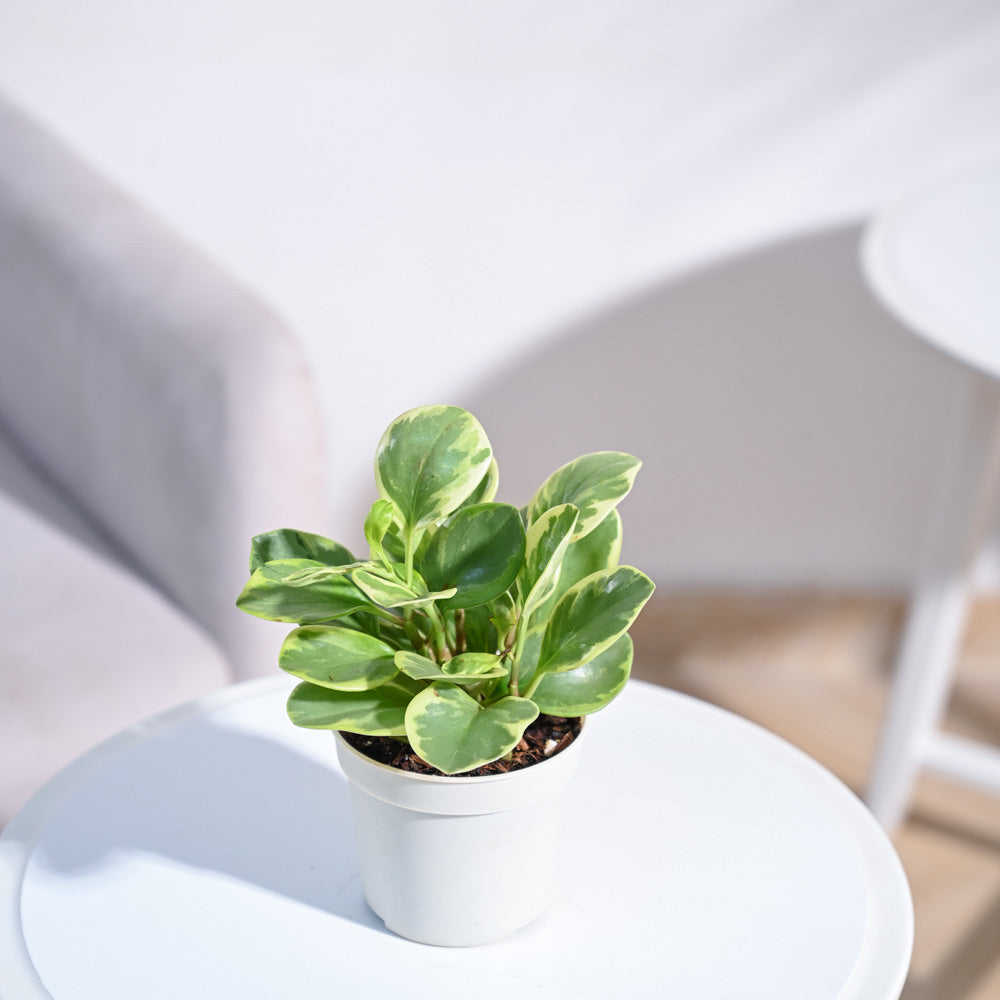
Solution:
M970 170L876 216L862 260L883 304L970 371L868 792L872 811L891 831L906 814L921 768L1000 794L1000 750L940 728L970 572L994 523L1000 481L1000 164Z

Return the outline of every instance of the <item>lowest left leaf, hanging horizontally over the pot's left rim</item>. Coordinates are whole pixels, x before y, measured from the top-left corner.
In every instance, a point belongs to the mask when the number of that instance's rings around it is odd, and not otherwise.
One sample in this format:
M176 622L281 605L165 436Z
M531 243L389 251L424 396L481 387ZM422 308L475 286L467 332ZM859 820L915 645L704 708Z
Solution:
M408 677L396 677L370 691L333 691L303 683L288 697L288 718L304 729L405 736L406 706L420 689Z

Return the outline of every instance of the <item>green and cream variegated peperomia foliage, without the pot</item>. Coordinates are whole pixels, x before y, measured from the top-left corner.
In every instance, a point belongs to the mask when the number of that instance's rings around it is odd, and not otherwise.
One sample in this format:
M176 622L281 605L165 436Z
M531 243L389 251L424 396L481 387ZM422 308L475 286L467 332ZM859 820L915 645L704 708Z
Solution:
M653 584L619 566L618 502L640 462L584 455L520 510L494 502L486 433L456 406L410 410L375 457L369 558L319 535L253 539L244 611L294 622L279 666L298 726L406 739L445 774L498 760L539 713L607 705Z

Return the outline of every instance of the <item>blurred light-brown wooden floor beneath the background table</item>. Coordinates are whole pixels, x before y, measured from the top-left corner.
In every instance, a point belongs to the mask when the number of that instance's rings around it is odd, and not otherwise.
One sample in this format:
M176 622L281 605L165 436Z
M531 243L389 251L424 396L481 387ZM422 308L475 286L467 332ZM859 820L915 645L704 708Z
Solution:
M863 793L898 601L664 594L633 626L634 674L753 719ZM1000 601L977 604L947 728L1000 744ZM916 909L904 1000L1000 1000L1000 799L921 779L895 838Z

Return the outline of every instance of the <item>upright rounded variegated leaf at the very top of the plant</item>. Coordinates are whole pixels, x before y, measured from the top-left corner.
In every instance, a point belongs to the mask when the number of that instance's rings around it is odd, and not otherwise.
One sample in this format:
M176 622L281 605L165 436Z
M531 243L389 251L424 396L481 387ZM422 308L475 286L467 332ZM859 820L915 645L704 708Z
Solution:
M397 417L375 454L379 493L395 503L404 531L447 517L486 475L486 432L458 406L422 406Z

